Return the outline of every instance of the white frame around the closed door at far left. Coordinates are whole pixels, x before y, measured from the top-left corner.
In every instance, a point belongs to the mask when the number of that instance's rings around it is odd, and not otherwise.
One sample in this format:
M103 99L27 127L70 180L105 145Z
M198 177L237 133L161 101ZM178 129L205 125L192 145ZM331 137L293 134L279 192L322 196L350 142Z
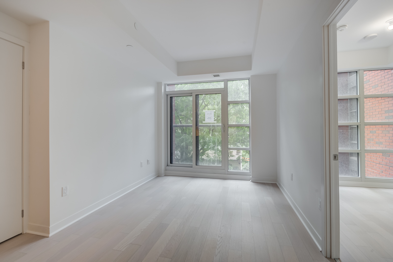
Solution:
M0 38L23 47L22 70L22 233L28 230L29 220L29 43L0 31ZM21 65L22 66L22 65ZM22 211L21 210L21 211ZM20 214L22 216L22 212Z

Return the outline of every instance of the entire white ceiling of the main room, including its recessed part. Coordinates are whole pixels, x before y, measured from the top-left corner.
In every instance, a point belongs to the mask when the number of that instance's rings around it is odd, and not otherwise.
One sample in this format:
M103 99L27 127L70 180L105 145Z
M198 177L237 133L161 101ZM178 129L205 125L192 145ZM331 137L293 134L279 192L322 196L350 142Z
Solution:
M213 79L176 76L176 61L253 54L252 70L217 72L220 79L277 72L320 2L0 0L0 11L29 25L51 21L130 70L173 83Z

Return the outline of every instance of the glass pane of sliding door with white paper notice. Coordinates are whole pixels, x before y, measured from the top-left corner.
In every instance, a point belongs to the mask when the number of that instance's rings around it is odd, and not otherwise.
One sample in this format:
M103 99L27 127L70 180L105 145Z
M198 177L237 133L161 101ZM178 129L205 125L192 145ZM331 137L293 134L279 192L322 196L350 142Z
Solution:
M221 94L196 95L196 164L221 166Z

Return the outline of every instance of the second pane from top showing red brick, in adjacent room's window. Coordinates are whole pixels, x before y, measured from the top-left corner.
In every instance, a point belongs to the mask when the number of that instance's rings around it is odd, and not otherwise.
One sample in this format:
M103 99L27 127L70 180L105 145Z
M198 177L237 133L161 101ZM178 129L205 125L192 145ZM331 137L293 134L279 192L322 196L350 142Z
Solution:
M393 98L365 98L364 121L393 121Z

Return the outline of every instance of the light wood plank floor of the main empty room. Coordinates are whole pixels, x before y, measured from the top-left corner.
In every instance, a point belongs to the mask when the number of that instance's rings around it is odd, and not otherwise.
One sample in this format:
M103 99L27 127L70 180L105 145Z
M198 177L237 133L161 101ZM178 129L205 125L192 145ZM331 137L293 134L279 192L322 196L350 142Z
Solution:
M334 260L323 257L276 184L164 176L52 237L2 242L0 261Z

